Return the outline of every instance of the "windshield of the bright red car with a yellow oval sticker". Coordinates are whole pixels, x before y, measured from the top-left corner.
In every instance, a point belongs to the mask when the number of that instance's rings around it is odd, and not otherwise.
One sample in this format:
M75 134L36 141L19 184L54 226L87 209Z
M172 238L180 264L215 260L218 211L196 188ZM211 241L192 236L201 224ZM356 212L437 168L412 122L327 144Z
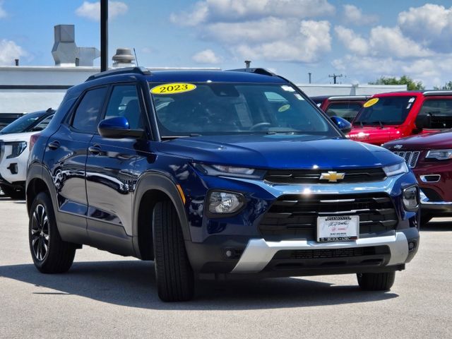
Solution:
M415 102L413 96L374 97L369 99L357 115L353 126L403 124Z

